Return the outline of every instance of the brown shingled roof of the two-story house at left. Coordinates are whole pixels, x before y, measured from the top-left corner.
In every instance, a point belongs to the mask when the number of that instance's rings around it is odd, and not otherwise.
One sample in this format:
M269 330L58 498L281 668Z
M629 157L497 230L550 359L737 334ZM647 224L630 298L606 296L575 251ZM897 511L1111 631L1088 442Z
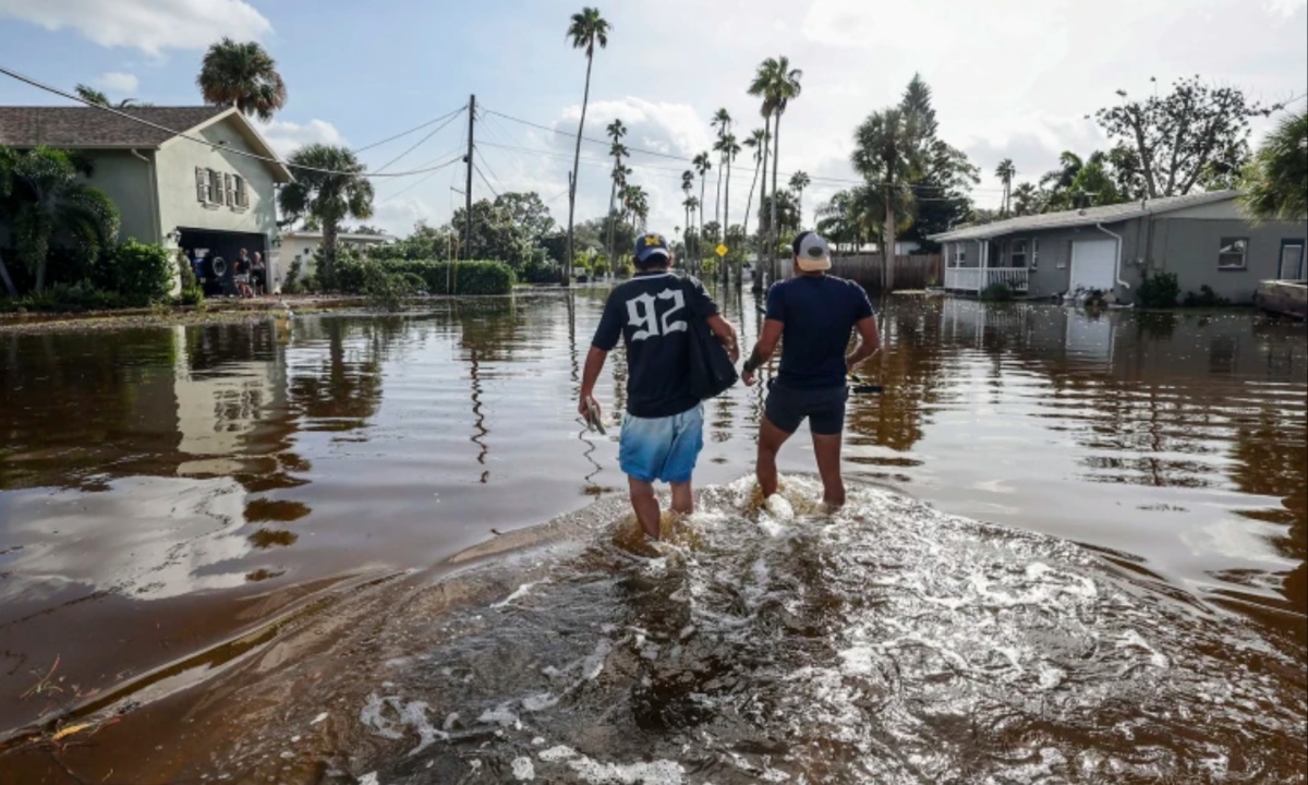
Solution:
M226 106L133 106L126 114L186 132ZM0 106L0 144L56 148L157 148L175 133L89 106Z

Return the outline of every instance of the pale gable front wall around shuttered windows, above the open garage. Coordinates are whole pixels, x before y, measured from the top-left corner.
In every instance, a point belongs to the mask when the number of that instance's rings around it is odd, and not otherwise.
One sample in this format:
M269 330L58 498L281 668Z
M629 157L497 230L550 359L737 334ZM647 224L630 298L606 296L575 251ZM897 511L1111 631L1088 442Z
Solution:
M161 226L165 234L173 229L191 228L212 232L241 232L263 234L266 247L272 247L277 234L275 178L268 166L255 158L233 153L252 150L230 120L203 128L198 133L212 143L225 143L226 149L205 147L186 139L173 139L158 152L158 190ZM213 169L235 174L245 179L250 205L233 209L230 205L205 205L196 195L195 169ZM173 245L171 241L169 241Z

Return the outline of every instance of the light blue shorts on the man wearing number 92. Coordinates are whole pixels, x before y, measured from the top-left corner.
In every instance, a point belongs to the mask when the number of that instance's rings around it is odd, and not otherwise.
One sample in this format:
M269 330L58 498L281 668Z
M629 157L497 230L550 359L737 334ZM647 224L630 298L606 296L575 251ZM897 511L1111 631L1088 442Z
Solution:
M704 404L671 417L627 415L617 446L628 476L645 483L688 483L704 449Z

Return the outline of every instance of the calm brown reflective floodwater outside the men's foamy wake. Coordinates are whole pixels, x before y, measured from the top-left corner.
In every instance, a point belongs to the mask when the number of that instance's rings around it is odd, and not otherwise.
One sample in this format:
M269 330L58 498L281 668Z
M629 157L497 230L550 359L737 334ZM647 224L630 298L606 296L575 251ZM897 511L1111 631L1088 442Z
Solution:
M598 390L610 436L574 413L603 297L306 318L289 338L271 322L0 338L0 733L334 581L624 488L621 352ZM725 307L748 345L757 302ZM1301 326L910 298L882 319L861 372L886 391L852 400L850 475L1086 543L1301 655ZM761 387L706 406L701 485L748 474L760 410ZM812 470L803 441L782 471ZM20 700L56 661L69 687Z

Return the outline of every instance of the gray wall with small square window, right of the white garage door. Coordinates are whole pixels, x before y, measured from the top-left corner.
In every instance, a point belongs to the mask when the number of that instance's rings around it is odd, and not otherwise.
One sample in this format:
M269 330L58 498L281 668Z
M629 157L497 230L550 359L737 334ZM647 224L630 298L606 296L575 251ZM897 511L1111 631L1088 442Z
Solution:
M1218 251L1222 238L1249 239L1244 270L1219 270ZM1148 258L1155 270L1175 272L1181 293L1213 290L1233 304L1253 302L1258 283L1274 279L1281 262L1281 242L1308 238L1308 226L1290 221L1250 224L1240 218L1175 218L1154 220Z

